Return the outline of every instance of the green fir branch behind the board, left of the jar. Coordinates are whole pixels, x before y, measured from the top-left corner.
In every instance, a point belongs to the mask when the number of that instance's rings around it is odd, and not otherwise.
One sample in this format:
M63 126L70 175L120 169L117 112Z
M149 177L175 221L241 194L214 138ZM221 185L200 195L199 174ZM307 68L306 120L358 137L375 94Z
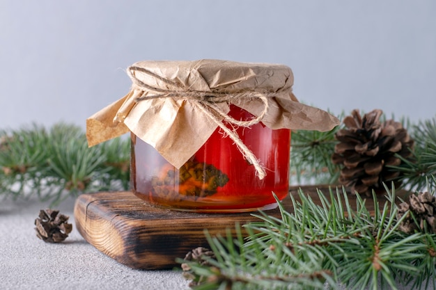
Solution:
M50 206L68 196L129 187L130 141L116 138L88 148L80 127L33 124L0 132L0 193L36 195Z

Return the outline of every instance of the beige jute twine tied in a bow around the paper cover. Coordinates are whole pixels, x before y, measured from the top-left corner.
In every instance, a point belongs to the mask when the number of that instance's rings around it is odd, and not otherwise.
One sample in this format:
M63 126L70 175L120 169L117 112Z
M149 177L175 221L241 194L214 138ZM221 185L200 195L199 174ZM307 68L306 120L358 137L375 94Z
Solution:
M177 90L168 90L162 88L155 88L153 86L149 86L143 81L140 81L136 76L134 76L134 72L143 72L150 76L159 79L164 83L169 84L173 88L178 88ZM189 88L182 88L178 86L178 83L175 83L169 79L165 79L158 74L150 72L143 67L131 66L127 70L127 74L129 74L130 78L133 81L132 89L142 90L143 93L140 97L135 99L136 102L141 102L148 99L159 99L171 97L173 99L188 99L193 106L196 106L199 110L201 110L205 115L208 116L212 122L215 122L222 131L224 131L224 136L228 136L233 140L235 145L238 147L238 150L244 156L244 159L247 159L249 163L251 163L256 169L257 175L259 179L263 179L266 176L265 169L260 165L260 161L256 158L253 152L249 150L247 145L245 145L238 134L236 133L235 127L250 127L253 124L257 124L262 121L265 114L268 111L270 106L268 102L268 97L273 97L276 95L275 92L256 92L256 91L244 91L244 92L207 92L207 91L198 91L198 90L190 90ZM151 92L152 95L149 93ZM263 102L263 111L254 118L250 120L236 120L228 115L228 113L224 112L217 106L217 103L228 102L231 103L232 99L259 99ZM222 118L222 121L219 119ZM229 129L224 122L231 125L232 129Z

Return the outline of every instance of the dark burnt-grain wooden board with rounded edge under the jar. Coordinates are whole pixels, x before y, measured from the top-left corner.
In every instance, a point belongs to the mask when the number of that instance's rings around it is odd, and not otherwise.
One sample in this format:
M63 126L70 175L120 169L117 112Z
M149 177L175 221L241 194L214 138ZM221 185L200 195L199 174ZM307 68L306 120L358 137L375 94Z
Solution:
M297 195L302 188L319 202L316 188L329 195L328 186L290 188ZM349 195L355 204L355 195ZM380 204L384 203L380 198ZM283 200L287 211L293 211L290 198ZM368 200L373 211L373 201ZM280 218L279 209L266 211ZM129 191L100 192L80 195L75 203L75 222L88 243L112 259L131 268L147 270L178 266L175 259L199 246L208 246L204 229L212 235L225 234L235 223L243 225L258 220L252 213L196 214L153 207Z

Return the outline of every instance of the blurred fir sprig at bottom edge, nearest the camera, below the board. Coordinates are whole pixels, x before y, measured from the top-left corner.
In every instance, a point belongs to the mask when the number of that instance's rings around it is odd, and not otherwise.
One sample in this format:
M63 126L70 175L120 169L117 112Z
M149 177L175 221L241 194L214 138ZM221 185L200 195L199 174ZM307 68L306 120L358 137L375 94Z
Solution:
M194 289L323 289L325 280L334 283L332 273L320 268L318 253L297 259L286 247L272 250L261 239L245 244L241 227L236 232L236 239L230 232L225 237L207 234L215 253L215 259L205 257L208 264L179 260L189 267Z

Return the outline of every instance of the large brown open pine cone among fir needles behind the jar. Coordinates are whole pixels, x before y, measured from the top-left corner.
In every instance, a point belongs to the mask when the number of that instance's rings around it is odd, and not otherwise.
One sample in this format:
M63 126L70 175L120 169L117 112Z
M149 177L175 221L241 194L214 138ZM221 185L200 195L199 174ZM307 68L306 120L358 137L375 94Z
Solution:
M366 113L363 118L353 110L345 117L345 129L335 137L339 141L334 148L332 162L343 166L339 182L350 186L352 192L371 196L384 193L383 183L394 182L399 186L400 172L387 166L399 166L401 159L410 159L414 141L400 122L380 122L381 110Z

